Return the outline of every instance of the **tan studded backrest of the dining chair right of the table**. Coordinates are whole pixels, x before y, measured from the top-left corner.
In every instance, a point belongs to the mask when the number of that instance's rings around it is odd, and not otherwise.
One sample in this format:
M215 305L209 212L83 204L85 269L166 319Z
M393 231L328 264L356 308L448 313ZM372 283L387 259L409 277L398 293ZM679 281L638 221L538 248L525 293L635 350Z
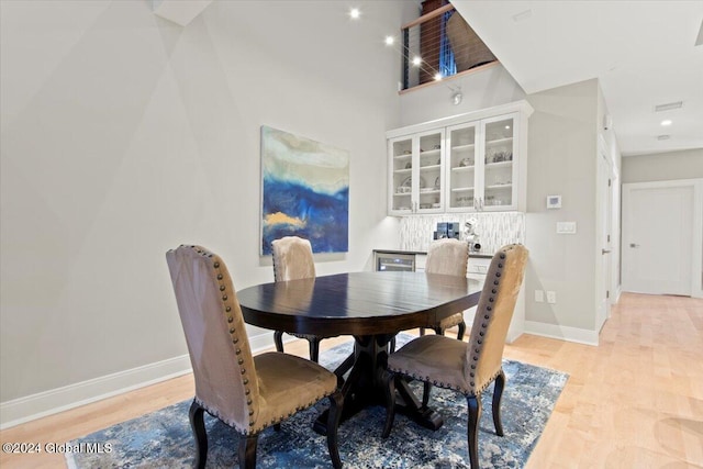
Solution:
M469 389L475 393L490 384L501 370L505 337L523 283L528 254L525 246L512 244L499 249L491 260L473 317L465 361Z

